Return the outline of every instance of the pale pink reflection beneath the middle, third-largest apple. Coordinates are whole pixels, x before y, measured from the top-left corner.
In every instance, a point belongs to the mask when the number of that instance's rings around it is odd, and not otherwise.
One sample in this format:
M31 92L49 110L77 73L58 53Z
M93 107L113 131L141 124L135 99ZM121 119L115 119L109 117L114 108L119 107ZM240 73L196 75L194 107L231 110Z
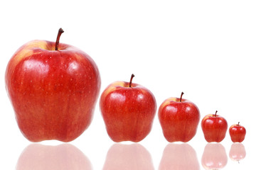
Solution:
M200 165L196 157L196 151L188 145L169 143L164 149L159 165L159 170L198 170Z

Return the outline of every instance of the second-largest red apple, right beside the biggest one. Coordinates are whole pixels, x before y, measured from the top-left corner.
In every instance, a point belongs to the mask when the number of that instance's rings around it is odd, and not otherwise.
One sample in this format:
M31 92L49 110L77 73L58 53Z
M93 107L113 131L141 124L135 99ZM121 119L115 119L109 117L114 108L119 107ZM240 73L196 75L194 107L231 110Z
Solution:
M151 131L156 99L144 86L131 80L116 81L100 96L100 111L107 133L114 142L143 140Z

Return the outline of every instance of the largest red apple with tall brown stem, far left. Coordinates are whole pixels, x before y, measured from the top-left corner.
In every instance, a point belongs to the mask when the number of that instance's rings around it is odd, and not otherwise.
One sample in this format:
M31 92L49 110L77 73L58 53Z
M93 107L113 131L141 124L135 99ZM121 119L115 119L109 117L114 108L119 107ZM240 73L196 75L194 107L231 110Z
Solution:
M76 47L33 40L6 68L6 91L18 127L31 142L75 140L92 121L100 92L95 62Z

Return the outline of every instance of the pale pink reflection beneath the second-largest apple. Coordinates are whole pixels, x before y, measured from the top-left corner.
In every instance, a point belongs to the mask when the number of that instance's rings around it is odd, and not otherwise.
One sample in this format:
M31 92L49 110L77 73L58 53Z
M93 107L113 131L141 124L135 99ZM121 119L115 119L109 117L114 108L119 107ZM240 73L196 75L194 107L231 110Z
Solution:
M103 170L153 170L149 152L138 143L124 145L116 143L110 147Z

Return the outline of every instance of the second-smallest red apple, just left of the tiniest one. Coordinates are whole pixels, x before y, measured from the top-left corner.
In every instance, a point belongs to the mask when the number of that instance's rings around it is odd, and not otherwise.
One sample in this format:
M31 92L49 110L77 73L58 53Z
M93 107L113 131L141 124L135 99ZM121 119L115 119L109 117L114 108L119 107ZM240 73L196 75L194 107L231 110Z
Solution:
M225 118L217 115L217 112L206 115L201 122L203 135L207 142L221 142L225 138L228 123Z

